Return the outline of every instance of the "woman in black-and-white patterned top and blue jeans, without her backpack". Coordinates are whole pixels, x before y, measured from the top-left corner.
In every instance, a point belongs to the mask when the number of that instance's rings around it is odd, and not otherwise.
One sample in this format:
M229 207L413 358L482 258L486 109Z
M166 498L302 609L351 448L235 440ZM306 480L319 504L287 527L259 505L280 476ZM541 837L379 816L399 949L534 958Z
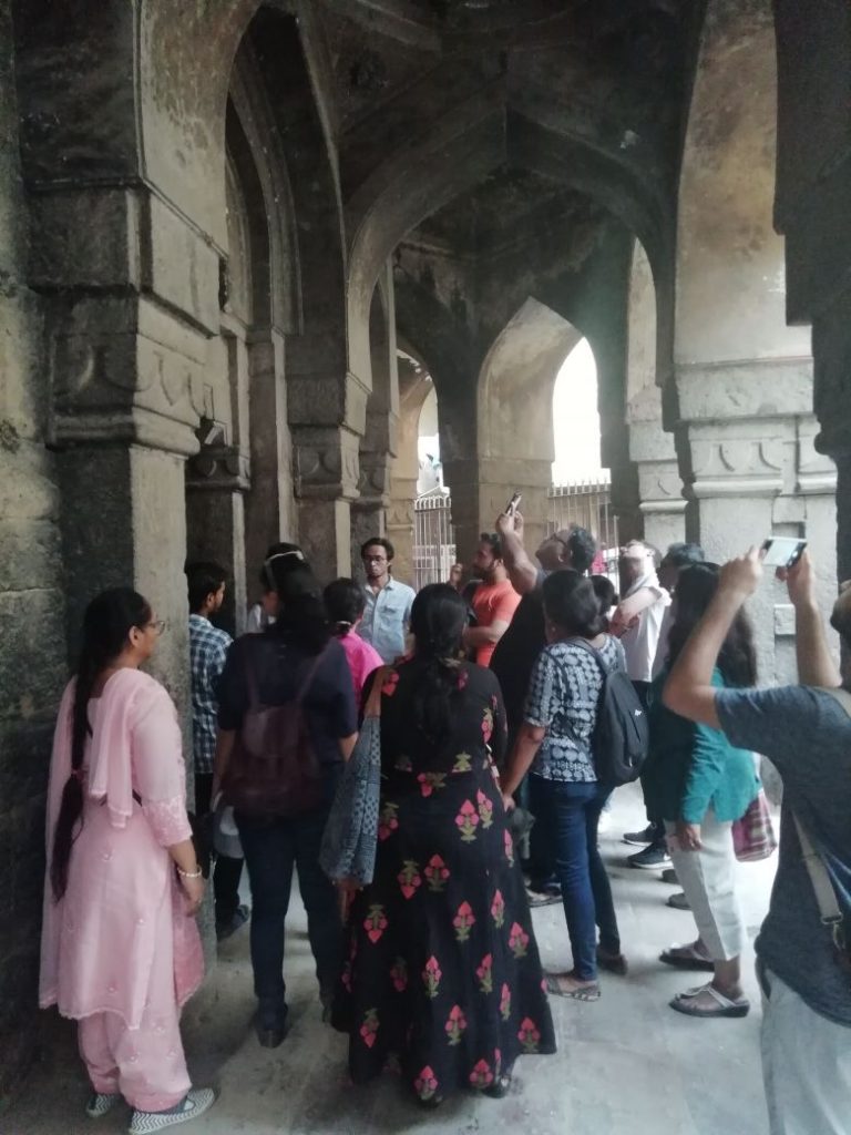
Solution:
M531 770L531 810L553 833L573 968L548 974L547 989L559 997L595 1001L600 995L598 966L626 973L612 886L597 847L600 812L612 785L598 782L592 753L604 688L600 662L609 672L624 671L626 663L621 644L605 631L606 619L590 579L572 571L549 575L544 581L544 613L548 646L532 671L503 793L511 808L512 793Z

